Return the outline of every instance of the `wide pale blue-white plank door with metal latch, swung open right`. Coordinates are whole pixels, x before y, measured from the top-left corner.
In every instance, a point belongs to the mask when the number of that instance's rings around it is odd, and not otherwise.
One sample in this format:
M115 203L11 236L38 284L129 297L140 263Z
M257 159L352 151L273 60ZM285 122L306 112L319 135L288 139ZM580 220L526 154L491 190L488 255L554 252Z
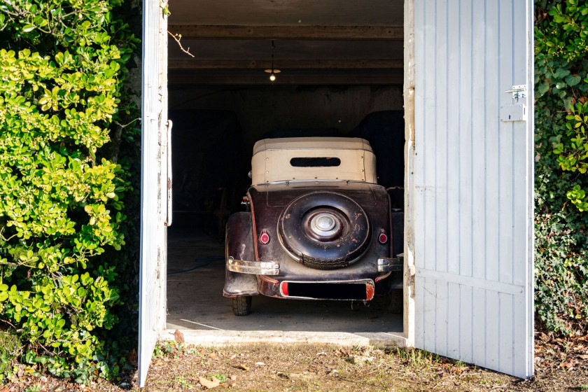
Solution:
M533 374L533 2L414 3L415 346Z

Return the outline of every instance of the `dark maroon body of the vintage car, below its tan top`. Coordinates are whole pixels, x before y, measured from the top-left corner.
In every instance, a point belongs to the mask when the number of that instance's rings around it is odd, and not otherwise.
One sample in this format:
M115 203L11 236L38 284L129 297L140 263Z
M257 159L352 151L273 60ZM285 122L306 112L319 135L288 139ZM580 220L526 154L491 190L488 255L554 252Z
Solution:
M223 295L233 298L237 315L248 314L258 294L369 301L376 284L402 274L395 256L403 215L391 210L382 186L280 181L251 186L244 202L247 211L233 214L226 230ZM311 228L317 219L330 224L327 235Z

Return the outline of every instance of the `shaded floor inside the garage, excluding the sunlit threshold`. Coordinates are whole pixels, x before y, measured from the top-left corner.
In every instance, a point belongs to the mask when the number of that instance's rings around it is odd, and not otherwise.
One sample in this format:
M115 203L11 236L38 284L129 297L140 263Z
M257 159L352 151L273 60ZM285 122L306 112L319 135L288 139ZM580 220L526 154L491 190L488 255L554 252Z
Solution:
M167 329L239 331L392 332L402 331L402 315L390 314L387 297L363 302L281 300L257 295L248 316L235 316L223 297L225 262L196 262L223 256L224 244L199 232L169 231ZM191 271L186 271L188 269ZM182 272L186 271L186 272ZM180 273L177 273L180 272Z

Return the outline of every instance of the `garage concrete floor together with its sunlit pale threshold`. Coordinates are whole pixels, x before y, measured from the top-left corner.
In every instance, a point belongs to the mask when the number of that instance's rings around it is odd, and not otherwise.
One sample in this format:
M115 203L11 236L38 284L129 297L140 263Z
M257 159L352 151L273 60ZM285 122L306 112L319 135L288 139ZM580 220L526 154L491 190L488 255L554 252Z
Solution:
M224 256L224 244L202 232L169 230L167 331L184 333L187 342L204 345L237 342L316 342L404 346L402 315L390 314L387 298L362 302L281 300L257 295L248 316L235 316L223 297L225 262L195 259ZM193 267L198 267L191 271ZM186 272L182 272L186 271ZM180 273L173 273L180 272ZM172 274L170 274L172 273Z

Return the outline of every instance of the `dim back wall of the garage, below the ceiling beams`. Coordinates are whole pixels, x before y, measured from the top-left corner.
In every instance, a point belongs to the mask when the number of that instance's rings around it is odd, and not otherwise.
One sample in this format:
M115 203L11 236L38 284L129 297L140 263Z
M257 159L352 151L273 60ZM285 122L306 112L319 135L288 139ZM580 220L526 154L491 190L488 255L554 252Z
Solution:
M175 88L169 92L169 108L234 111L251 151L272 130L334 127L346 133L368 113L402 110L402 86Z

